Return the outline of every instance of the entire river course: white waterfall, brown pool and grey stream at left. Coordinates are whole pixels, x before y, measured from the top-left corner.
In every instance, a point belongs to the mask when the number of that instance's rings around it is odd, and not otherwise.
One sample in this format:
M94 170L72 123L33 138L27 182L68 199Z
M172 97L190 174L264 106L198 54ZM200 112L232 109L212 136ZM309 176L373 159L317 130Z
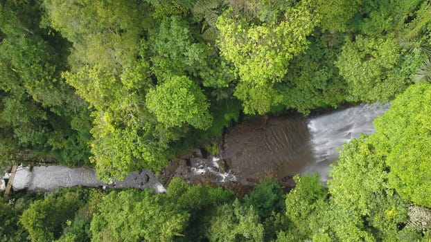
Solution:
M344 142L358 138L360 133L373 133L374 118L387 109L389 104L361 104L315 118L247 117L225 134L222 157L195 157L190 165L175 167L173 174L189 183L213 180L215 185L229 182L255 185L267 176L283 179L318 172L326 182L329 165L337 159L337 149ZM132 172L123 181L103 184L91 168L50 166L33 167L30 171L28 167L19 167L12 183L14 189L42 191L75 185L166 191L157 176L146 169Z

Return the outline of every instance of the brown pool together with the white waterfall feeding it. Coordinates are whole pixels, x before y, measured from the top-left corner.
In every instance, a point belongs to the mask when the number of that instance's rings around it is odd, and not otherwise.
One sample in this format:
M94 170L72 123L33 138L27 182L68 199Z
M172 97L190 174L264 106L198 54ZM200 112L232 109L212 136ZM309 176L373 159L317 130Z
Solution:
M360 133L373 133L374 118L387 109L389 104L360 104L315 118L247 118L225 136L223 158L243 185L315 172L326 182L337 149Z

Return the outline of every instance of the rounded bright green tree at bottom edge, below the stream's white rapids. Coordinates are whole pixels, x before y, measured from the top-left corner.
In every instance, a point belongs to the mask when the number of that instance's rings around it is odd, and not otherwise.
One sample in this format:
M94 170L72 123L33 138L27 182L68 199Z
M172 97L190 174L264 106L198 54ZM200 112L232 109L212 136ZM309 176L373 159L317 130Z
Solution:
M188 214L152 191L111 192L91 221L91 241L172 241L180 236Z

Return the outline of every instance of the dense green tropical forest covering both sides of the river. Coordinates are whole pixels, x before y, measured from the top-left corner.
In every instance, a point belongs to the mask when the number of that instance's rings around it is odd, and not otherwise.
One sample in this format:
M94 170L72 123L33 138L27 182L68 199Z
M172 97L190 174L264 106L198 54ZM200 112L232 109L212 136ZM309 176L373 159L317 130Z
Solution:
M247 120L267 134L276 118L365 104L387 109L327 178L164 176L223 159ZM1 192L0 241L431 241L431 3L0 0L0 175L17 165L105 184L145 169L166 189ZM261 169L218 167L245 168Z

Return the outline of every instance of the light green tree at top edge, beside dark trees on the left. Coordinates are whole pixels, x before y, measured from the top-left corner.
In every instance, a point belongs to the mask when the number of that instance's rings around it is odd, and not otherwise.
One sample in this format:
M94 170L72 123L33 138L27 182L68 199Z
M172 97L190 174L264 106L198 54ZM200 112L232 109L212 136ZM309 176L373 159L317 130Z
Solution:
M44 7L49 24L73 43L72 68L99 64L118 72L136 59L145 17L141 12L148 4L46 0Z

